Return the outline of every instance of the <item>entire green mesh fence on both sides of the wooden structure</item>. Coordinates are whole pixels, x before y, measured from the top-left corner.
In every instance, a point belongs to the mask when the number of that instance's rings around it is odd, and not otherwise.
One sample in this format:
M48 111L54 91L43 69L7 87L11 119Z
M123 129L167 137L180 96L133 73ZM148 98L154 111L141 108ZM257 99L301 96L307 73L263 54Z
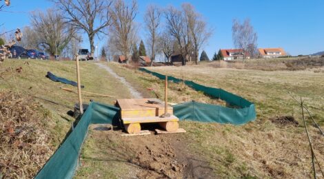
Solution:
M141 68L141 71L153 74L160 79L165 79L165 76L162 74L151 72L144 68ZM181 82L179 78L174 78L172 76L169 76L168 80L174 83ZM256 118L254 104L240 96L226 92L223 89L205 87L192 81L184 81L184 83L214 98L221 98L223 101L226 101L228 105L239 108L190 101L188 103L174 105L174 115L181 120L241 125ZM72 178L77 169L81 147L88 134L89 125L118 125L119 118L119 108L111 105L103 105L101 103L90 103L77 126L74 127L74 130L65 139L64 143L57 149L50 160L43 166L35 178Z

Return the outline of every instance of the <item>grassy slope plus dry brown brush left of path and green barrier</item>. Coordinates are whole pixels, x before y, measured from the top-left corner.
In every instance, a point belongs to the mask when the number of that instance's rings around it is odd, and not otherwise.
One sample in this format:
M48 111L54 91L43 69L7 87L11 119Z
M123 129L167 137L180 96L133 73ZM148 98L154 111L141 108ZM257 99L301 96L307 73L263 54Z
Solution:
M122 83L94 63L81 62L80 66L84 90L130 97ZM75 61L12 59L0 64L0 178L32 178L74 122L67 112L77 103L77 94L60 87L76 87L51 81L45 77L49 71L76 81ZM108 104L114 101L83 95L84 103L90 99Z

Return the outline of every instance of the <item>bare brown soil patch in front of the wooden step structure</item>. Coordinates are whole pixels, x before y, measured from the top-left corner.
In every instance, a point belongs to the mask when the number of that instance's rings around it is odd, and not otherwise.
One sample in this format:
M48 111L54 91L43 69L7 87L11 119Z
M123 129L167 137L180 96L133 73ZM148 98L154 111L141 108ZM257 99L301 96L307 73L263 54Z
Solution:
M214 178L203 158L190 154L181 134L121 136L122 131L92 131L103 138L114 160L123 160L136 168L127 178Z

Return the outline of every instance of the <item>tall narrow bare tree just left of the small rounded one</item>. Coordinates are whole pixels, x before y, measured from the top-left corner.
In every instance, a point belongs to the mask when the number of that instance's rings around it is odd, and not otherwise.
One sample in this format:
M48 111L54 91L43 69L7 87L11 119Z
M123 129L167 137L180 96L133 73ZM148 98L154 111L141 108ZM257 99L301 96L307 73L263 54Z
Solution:
M155 60L155 55L159 51L159 25L161 23L162 12L161 9L156 5L150 5L146 9L144 15L144 21L146 28L148 30L148 45L149 45L149 54L152 66Z

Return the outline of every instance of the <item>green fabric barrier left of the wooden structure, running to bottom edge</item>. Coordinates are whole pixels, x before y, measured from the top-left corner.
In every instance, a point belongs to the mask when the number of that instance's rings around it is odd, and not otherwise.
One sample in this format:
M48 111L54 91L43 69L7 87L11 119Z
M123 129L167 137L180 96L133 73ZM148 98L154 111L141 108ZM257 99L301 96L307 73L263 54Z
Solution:
M68 138L55 151L54 155L43 166L35 178L72 178L77 169L81 146L88 134L89 125L116 123L118 119L118 107L103 105L101 103L90 103L77 126L74 127Z

